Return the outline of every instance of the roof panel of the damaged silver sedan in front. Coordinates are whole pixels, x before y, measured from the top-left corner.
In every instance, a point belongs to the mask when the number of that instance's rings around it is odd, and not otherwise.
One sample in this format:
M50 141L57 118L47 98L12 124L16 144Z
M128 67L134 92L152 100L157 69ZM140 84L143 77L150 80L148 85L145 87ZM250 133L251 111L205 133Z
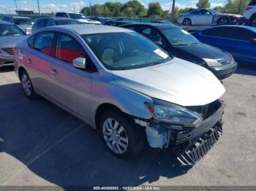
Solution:
M78 34L101 34L101 33L113 33L113 32L131 32L127 28L119 28L116 26L104 26L104 25L66 25L66 26L51 26L50 28L64 28L67 30L75 31Z

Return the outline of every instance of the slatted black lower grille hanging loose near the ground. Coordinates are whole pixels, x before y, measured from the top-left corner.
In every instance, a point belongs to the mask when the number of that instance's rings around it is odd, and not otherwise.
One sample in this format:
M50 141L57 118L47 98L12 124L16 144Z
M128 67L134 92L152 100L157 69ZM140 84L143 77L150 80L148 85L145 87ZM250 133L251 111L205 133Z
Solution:
M184 149L177 160L181 165L195 165L206 153L214 146L222 135L222 125L216 126L208 130L197 142L188 149Z

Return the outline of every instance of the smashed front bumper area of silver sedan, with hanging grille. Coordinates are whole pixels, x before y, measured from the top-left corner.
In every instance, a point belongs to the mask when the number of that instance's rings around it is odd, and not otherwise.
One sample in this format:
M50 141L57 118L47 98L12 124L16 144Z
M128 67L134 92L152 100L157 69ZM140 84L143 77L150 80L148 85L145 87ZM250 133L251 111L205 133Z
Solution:
M172 149L181 165L195 165L222 134L224 106L222 101L217 100L205 106L190 106L186 109L200 116L200 120L189 120L189 117L194 117L191 115L187 116L184 120L187 123L184 124L178 124L176 118L174 122L167 122L157 117L147 122L135 119L135 122L146 128L150 147Z

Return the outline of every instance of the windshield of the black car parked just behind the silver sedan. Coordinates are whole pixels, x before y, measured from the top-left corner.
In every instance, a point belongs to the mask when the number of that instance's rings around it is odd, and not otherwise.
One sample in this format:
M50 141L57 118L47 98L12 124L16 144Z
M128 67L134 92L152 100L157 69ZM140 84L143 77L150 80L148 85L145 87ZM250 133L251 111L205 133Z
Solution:
M159 29L160 31L162 31L162 34L165 35L168 42L170 42L170 44L172 44L173 46L200 43L194 36L192 36L182 28L167 27Z

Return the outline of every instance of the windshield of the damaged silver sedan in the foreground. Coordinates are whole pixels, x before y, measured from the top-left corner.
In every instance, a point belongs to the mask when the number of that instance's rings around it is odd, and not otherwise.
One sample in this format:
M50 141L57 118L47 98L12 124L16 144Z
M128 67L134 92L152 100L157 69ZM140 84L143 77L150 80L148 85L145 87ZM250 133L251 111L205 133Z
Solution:
M106 68L138 69L170 61L170 57L140 34L86 34L83 39Z

